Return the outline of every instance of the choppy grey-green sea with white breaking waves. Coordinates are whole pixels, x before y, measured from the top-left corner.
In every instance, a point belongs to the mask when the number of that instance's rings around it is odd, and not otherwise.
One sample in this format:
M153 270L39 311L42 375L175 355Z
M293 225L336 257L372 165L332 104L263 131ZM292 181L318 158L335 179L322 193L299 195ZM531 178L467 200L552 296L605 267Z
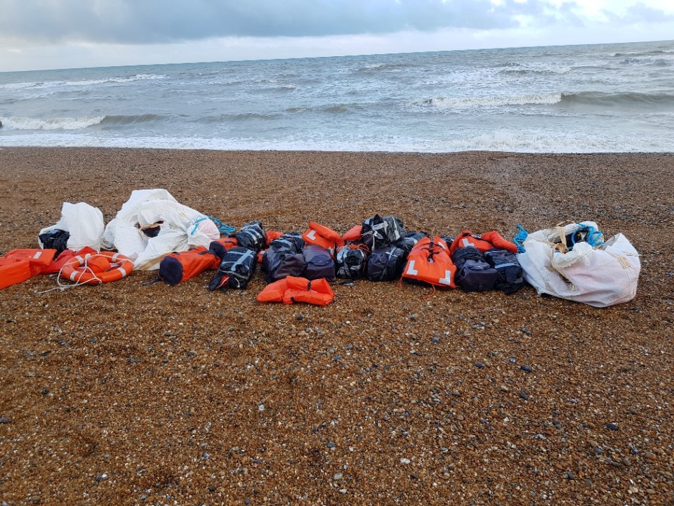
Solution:
M674 41L0 72L1 146L674 151Z

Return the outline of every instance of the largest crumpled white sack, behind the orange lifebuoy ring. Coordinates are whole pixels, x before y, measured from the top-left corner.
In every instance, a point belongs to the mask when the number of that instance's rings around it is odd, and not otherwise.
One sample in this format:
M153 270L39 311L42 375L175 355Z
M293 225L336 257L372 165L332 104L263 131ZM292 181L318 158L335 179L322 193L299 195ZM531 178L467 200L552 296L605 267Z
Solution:
M159 228L155 237L147 233ZM103 245L133 260L134 268L152 271L171 252L209 247L220 238L211 219L182 205L166 190L133 190L117 216L105 227Z

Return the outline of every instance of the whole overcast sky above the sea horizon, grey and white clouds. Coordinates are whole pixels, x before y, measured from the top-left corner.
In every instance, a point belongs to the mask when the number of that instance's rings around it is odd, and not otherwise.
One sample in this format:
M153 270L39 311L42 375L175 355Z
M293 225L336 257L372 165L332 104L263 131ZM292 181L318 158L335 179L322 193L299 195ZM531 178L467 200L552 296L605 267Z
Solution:
M674 0L0 0L0 71L666 39Z

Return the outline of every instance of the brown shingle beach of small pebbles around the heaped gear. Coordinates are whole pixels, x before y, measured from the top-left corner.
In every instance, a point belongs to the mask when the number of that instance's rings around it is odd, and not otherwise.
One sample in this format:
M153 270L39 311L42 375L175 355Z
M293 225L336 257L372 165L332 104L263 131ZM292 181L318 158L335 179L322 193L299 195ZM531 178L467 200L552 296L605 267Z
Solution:
M674 155L1 148L0 253L132 190L239 228L590 219L637 297L333 284L326 307L156 272L0 292L0 504L673 505ZM43 293L44 292L44 293Z

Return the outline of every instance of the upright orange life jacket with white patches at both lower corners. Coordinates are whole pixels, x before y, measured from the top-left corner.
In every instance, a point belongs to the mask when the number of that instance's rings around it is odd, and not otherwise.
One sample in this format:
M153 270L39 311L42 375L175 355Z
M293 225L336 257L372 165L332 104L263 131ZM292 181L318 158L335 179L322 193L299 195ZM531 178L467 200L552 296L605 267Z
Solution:
M418 240L407 256L402 277L439 287L456 288L456 266L449 257L447 242L438 237Z

